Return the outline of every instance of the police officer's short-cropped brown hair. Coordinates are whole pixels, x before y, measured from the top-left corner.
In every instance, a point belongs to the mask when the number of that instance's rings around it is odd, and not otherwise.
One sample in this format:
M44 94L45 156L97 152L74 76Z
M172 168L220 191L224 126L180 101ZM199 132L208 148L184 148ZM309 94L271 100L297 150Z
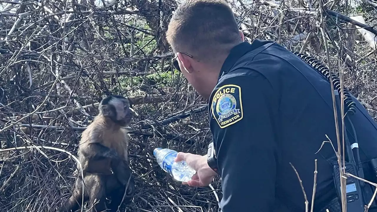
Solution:
M242 41L225 0L185 0L170 19L166 38L174 52L207 61Z

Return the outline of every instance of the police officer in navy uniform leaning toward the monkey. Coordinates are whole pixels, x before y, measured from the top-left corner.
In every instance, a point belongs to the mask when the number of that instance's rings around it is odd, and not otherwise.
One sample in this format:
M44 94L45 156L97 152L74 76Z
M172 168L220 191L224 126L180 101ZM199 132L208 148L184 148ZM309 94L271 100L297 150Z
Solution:
M209 101L215 146L211 166L205 155L179 152L176 161L185 160L197 171L185 184L208 186L219 175L223 212L304 212L292 166L311 204L317 160L314 211L337 202L330 163L335 152L329 143L321 148L329 138L337 150L328 80L273 41L245 42L223 0L185 1L166 35L176 54L175 67ZM365 162L377 157L377 126L354 101L351 119Z

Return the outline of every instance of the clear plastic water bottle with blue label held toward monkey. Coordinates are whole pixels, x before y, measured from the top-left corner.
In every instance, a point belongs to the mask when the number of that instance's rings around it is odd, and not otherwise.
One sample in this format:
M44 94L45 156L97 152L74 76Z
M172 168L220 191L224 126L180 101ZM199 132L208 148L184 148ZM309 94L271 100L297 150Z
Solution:
M153 155L157 159L157 163L162 170L169 173L175 180L187 182L191 180L192 176L196 173L186 161L175 162L178 152L172 149L156 148L153 150Z

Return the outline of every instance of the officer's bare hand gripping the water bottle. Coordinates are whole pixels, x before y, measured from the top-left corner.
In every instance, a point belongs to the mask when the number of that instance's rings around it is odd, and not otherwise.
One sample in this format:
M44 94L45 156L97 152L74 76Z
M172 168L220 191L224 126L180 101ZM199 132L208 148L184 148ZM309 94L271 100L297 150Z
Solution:
M208 166L206 156L178 152L175 162L182 160L186 161L186 163L196 171L196 174L191 180L187 181L187 183L182 182L182 184L187 184L193 187L208 186L217 175L217 173Z

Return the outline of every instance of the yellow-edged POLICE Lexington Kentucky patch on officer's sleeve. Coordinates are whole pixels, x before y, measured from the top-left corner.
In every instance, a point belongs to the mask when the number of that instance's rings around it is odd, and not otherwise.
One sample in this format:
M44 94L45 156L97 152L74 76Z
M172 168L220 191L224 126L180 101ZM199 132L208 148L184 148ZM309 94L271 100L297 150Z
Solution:
M244 117L241 87L234 84L221 86L213 95L211 110L220 128L240 121Z

